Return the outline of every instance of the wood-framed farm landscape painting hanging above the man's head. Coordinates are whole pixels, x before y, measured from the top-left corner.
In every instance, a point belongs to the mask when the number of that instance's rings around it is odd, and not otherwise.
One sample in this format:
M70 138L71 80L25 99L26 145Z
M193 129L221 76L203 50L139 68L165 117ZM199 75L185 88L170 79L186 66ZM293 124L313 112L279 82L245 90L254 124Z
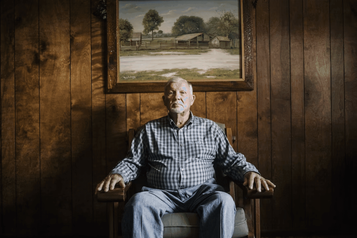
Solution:
M253 90L249 0L107 0L107 93Z

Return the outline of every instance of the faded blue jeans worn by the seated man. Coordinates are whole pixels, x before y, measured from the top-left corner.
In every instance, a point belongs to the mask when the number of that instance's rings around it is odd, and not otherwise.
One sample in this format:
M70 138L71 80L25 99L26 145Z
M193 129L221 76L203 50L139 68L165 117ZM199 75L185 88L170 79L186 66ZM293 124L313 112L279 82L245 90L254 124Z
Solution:
M176 191L143 187L125 206L123 237L162 237L162 215L175 212L198 213L202 238L231 238L233 235L235 203L211 178L201 185Z

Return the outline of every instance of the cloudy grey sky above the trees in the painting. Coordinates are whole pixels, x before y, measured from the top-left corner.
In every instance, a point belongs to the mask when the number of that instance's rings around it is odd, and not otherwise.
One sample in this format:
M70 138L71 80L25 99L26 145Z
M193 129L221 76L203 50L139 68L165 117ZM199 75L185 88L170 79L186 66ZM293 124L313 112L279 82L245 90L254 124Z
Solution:
M124 1L119 0L119 18L127 19L134 32L142 32L142 19L147 11L155 9L164 18L159 30L170 33L180 16L198 16L207 22L210 17L219 17L222 11L231 11L238 17L238 1L207 0L161 0L161 1Z

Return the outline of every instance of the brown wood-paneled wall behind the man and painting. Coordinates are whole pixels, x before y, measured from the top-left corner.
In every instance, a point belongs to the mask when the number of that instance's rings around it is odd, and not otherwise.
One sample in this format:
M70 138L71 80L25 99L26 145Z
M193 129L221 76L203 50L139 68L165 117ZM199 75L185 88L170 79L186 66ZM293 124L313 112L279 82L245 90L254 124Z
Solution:
M127 130L166 114L162 93L105 94L97 4L0 1L3 235L105 236L96 184L125 156ZM356 12L353 0L258 1L254 90L196 93L193 113L231 127L277 185L263 231L351 231Z

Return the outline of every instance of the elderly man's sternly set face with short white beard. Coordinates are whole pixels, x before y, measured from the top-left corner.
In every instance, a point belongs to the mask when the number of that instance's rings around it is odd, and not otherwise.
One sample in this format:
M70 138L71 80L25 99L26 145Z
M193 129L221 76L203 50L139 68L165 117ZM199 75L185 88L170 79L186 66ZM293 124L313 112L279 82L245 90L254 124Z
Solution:
M195 101L195 95L190 92L190 87L185 81L173 82L166 87L164 104L170 113L189 112Z

